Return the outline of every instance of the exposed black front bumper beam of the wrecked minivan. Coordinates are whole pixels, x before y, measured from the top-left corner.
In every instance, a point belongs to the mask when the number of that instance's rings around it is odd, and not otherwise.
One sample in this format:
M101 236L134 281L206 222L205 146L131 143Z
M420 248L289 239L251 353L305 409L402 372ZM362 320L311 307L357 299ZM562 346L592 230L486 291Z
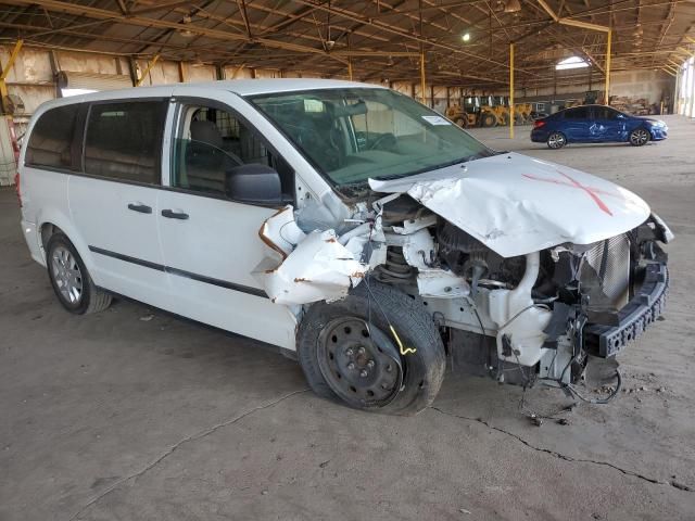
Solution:
M617 326L587 325L584 328L584 348L587 353L610 357L661 316L669 288L666 263L649 264L640 291L618 313Z

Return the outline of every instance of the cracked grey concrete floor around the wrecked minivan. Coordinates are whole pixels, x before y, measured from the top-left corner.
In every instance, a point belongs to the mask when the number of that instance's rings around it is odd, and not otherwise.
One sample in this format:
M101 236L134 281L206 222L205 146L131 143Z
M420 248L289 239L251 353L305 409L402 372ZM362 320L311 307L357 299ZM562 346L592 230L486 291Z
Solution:
M71 316L0 191L0 520L695 519L695 120L666 119L642 149L475 131L622 183L677 233L667 320L620 356L631 392L568 425L479 378L417 417L362 414L254 341L130 302Z

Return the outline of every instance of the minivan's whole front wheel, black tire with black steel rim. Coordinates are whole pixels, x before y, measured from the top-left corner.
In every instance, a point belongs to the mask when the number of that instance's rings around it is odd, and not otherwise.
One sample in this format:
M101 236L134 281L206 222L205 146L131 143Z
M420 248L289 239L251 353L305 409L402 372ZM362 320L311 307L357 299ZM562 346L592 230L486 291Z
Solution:
M415 353L400 354L389 322ZM353 347L356 356L350 353ZM341 301L308 308L299 327L298 355L319 396L392 415L414 415L428 407L446 367L441 335L422 302L367 280ZM350 368L351 360L356 367Z

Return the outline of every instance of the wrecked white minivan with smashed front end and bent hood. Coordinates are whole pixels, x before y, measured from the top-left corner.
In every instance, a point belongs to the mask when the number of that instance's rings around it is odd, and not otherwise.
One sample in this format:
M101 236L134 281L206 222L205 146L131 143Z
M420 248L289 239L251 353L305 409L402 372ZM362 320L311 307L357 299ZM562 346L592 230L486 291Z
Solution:
M493 151L372 85L51 101L29 124L17 192L67 310L124 295L257 339L362 409L422 409L447 356L579 393L589 361L639 336L668 288L658 243L672 233L639 196Z

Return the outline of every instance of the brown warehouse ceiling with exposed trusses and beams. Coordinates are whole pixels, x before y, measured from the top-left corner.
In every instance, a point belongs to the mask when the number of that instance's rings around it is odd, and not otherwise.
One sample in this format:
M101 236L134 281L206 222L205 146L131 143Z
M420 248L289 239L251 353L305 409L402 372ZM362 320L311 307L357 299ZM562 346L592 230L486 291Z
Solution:
M350 62L366 81L416 81L425 52L428 81L470 87L508 82L514 42L521 87L587 74L555 72L570 55L599 79L607 33L568 22L612 27L612 71L660 68L695 49L694 0L9 0L0 42L326 77Z

